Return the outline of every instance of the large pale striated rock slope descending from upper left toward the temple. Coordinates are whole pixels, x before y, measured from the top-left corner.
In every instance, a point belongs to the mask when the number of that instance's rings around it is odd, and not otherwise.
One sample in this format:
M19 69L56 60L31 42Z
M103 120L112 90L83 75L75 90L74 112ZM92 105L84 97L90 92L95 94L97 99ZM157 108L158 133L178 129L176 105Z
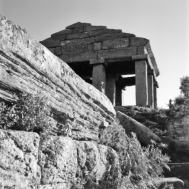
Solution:
M73 138L97 140L98 127L115 118L108 98L1 15L0 28L0 99L42 92L59 119L74 118Z

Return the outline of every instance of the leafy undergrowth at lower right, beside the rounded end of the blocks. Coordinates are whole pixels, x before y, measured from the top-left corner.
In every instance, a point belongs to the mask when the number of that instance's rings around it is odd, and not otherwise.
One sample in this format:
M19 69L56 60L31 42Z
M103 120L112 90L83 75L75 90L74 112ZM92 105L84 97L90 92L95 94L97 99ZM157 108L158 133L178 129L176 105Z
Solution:
M162 154L163 144L142 147L135 134L128 137L120 125L106 128L100 142L112 147L119 155L122 171L121 188L157 188L153 179L161 177L163 168L169 169L169 157ZM124 183L124 184L123 184Z

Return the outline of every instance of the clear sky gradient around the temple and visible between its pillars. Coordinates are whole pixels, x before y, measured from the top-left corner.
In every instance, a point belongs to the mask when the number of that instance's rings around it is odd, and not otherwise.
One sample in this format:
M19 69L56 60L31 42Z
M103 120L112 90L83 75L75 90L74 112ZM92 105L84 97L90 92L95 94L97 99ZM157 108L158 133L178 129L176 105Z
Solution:
M37 41L76 22L122 29L150 40L160 75L158 107L180 94L180 78L189 76L188 0L0 0L0 14L25 28ZM124 104L134 104L134 87Z

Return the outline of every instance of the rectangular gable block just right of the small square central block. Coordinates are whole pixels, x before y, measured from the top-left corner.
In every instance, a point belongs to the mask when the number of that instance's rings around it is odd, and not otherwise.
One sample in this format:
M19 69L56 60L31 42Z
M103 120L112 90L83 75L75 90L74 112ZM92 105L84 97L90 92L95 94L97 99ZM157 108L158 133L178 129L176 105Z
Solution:
M102 42L102 49L118 49L128 46L129 46L128 38L107 40Z

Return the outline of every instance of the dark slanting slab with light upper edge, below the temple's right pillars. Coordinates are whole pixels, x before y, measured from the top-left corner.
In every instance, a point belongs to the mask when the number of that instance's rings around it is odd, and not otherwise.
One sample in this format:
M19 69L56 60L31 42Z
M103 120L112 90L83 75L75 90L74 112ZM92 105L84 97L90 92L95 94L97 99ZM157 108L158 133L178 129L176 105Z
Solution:
M150 144L151 140L155 142L161 142L161 139L154 134L150 129L145 127L138 121L130 118L126 114L117 111L117 119L120 121L120 125L123 126L127 134L131 132L136 133L138 140L144 144Z

